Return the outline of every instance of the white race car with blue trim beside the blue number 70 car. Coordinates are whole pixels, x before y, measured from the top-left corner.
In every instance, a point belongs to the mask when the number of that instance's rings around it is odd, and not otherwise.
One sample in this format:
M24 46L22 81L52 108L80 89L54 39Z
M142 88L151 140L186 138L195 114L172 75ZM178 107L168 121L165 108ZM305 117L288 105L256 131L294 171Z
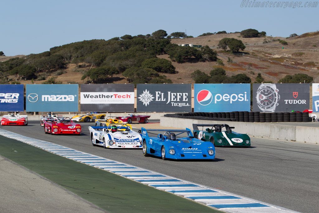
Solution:
M93 146L104 148L142 148L142 137L127 124L89 126Z

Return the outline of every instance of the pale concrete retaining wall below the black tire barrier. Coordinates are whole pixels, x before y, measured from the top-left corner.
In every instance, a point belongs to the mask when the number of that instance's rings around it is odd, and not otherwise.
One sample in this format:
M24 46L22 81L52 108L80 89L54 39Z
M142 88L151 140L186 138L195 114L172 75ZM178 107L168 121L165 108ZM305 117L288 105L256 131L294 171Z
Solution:
M280 124L232 122L232 121L208 121L186 118L160 117L160 126L193 129L192 124L228 124L234 126L234 132L246 133L249 136L279 139L285 141L298 141L307 143L319 143L319 128L307 126L289 126Z

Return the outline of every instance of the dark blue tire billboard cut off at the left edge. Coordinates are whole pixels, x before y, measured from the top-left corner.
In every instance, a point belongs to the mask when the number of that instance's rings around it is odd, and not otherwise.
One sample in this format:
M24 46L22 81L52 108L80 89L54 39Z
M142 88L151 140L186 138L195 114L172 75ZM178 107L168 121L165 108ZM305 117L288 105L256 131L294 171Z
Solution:
M23 84L0 84L0 111L23 111Z

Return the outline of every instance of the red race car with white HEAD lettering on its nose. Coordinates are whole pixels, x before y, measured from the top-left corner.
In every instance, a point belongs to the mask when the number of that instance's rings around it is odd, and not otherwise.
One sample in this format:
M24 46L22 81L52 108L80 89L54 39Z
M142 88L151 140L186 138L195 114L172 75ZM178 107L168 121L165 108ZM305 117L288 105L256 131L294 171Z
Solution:
M81 125L74 123L68 117L44 119L44 133L50 134L81 134Z

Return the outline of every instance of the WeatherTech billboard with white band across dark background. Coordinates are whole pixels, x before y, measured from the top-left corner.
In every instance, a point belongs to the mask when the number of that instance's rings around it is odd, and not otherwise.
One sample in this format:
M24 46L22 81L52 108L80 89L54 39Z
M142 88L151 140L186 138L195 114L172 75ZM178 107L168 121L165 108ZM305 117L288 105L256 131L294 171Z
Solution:
M134 112L134 84L81 84L81 111Z

